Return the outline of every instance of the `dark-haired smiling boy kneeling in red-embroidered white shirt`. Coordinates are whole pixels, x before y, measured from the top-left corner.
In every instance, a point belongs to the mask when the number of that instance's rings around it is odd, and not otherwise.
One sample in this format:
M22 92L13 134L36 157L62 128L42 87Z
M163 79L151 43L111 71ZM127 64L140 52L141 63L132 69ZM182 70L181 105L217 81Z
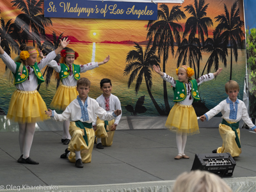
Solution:
M111 94L112 84L110 79L102 79L100 81L100 90L102 90L102 95L96 99L99 106L106 111L114 111L116 109L121 110L121 103L118 97ZM95 136L97 137L97 148L104 148L104 146L111 146L113 143L113 137L115 134L116 126L120 121L121 115L117 116L115 120L104 121L99 117L97 122L93 122L93 129L95 131Z

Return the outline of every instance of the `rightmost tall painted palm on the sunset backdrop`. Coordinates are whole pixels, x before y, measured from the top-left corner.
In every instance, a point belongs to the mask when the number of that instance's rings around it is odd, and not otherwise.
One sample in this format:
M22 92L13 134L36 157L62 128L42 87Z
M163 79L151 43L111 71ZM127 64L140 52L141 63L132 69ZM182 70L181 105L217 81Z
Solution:
M216 27L216 31L221 33L221 38L225 41L226 45L230 45L230 80L232 79L232 52L234 53L235 60L237 61L237 48L241 47L242 37L244 32L242 30L244 21L240 19L239 8L237 8L238 1L232 5L230 12L226 4L224 4L225 14L215 17L216 22L220 22Z

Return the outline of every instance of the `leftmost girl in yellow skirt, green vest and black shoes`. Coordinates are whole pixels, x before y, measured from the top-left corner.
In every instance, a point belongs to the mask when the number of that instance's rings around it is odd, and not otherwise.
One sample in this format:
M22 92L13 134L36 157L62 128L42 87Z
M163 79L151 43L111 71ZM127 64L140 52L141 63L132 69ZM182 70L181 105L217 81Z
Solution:
M53 60L68 43L69 40L67 41L67 38L64 38L61 40L61 46L58 49L50 52L47 57L38 63L36 58L39 54L35 47L22 44L20 46L20 55L15 58L15 61L17 61L15 62L0 46L0 57L12 71L14 84L17 88L12 95L7 118L19 123L19 163L39 164L29 157L29 152L33 142L36 122L48 119L47 115L44 114L45 109L47 109L45 102L36 90L38 84L44 82L44 77L40 70Z

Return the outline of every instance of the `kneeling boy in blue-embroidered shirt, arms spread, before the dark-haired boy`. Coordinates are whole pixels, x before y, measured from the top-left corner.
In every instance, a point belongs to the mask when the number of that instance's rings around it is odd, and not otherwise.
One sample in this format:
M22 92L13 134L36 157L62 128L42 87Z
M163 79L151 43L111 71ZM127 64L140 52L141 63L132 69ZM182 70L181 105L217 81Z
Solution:
M70 102L62 114L55 111L45 111L45 114L52 116L57 121L71 119L69 132L71 135L70 143L61 158L67 158L70 162L76 163L77 168L83 168L83 163L92 161L92 150L95 132L92 129L92 122L96 122L98 115L103 120L112 120L121 114L119 109L107 112L100 108L95 99L88 97L90 91L90 81L81 78L77 81L77 99Z

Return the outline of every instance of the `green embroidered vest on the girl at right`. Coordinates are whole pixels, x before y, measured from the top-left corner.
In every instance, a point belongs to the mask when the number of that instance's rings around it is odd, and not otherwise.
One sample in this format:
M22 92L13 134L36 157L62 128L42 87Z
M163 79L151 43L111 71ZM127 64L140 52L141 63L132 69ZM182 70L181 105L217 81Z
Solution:
M198 84L196 82L195 79L189 81L192 84L192 90L191 90L191 94L192 97L195 100L200 100L199 94L198 94ZM174 92L174 97L173 97L173 101L174 102L178 102L178 101L182 101L187 97L187 89L186 89L186 85L185 83L179 82L176 80L176 87L173 87L173 92Z

